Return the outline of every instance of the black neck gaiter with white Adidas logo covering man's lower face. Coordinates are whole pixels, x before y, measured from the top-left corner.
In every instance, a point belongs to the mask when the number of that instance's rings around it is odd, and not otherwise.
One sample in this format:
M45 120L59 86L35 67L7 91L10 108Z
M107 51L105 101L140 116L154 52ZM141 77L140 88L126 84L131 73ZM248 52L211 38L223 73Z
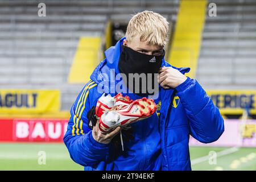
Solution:
M124 79L124 82L127 88L129 88L131 92L142 97L154 94L154 92L152 93L152 90L155 90L155 86L158 86L157 77L154 73L158 73L164 55L164 50L162 55L154 56L134 51L133 49L122 45L122 53L119 57L118 68L120 73L126 75L127 82L126 79ZM138 81L135 82L135 78L129 79L129 73L138 73L138 75L145 73L145 75L143 75L146 76L146 80L141 78L139 79L139 83ZM148 75L147 73L151 74Z

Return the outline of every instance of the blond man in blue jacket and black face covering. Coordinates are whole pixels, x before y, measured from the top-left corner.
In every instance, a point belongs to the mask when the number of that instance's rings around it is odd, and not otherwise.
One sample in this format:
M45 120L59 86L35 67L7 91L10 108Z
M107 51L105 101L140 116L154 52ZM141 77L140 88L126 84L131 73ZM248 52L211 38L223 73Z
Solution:
M164 61L167 32L168 22L160 14L134 15L126 36L105 51L106 59L81 90L64 142L85 170L191 170L189 135L209 143L223 133L218 108L195 79L184 75L189 68ZM101 133L98 121L91 121L102 92L112 97L121 92L133 100L153 98L156 112L129 127Z

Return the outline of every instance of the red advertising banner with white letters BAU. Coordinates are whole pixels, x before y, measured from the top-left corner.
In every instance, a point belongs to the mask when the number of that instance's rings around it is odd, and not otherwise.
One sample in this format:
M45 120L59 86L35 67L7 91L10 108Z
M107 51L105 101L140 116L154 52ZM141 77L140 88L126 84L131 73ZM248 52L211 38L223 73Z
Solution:
M62 142L67 119L0 119L0 142Z

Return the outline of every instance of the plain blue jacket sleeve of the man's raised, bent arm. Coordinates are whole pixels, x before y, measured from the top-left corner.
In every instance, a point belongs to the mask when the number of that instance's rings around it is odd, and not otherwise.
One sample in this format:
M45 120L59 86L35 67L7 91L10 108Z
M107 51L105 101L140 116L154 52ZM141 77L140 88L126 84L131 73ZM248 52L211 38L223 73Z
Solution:
M199 82L187 77L175 89L189 119L192 137L202 143L220 138L224 132L224 120Z

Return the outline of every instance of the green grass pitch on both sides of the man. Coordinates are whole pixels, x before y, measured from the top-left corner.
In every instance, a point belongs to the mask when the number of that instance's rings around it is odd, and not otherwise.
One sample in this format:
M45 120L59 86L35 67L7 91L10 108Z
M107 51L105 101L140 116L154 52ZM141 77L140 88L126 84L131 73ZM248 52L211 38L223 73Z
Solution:
M238 148L224 154L227 149L191 147L191 160L196 161L192 169L256 170L256 148ZM214 154L213 151L217 153L216 160L204 157L209 152ZM224 155L218 156L220 152ZM71 160L67 148L61 143L0 143L0 170L83 170L83 167Z

